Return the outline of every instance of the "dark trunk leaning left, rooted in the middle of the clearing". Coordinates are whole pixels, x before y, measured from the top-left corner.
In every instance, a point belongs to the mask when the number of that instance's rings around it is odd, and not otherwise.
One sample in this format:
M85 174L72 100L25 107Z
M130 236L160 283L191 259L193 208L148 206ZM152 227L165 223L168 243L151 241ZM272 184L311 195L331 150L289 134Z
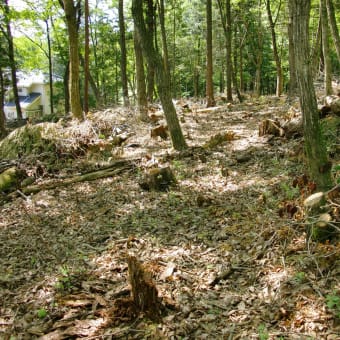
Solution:
M156 71L156 84L158 94L163 106L164 115L168 124L173 147L176 150L183 150L187 148L181 126L178 121L175 106L172 102L170 92L170 79L165 70L163 58L160 53L155 49L153 36L148 34L146 29L143 4L141 1L132 1L132 16L134 19L135 27L141 39L143 53L148 61Z

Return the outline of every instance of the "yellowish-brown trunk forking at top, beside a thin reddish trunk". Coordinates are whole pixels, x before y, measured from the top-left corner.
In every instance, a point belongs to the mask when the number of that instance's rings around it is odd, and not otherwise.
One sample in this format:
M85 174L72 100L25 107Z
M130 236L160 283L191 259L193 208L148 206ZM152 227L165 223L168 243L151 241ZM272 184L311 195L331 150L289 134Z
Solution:
M64 0L64 11L66 24L68 29L69 40L69 57L70 57L70 72L69 72L69 94L70 107L74 118L82 120L83 110L80 101L79 88L79 42L78 42L78 18L77 13L80 11L80 0L77 0L76 6L73 0Z

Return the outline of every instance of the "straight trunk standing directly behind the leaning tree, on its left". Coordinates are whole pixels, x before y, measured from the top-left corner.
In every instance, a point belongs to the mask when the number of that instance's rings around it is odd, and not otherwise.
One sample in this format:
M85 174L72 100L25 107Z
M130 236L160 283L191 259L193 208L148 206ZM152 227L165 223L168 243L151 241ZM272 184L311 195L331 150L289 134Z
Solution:
M136 82L137 82L137 106L139 117L142 121L148 120L148 98L145 85L143 51L138 37L137 30L133 35L135 57L136 57Z

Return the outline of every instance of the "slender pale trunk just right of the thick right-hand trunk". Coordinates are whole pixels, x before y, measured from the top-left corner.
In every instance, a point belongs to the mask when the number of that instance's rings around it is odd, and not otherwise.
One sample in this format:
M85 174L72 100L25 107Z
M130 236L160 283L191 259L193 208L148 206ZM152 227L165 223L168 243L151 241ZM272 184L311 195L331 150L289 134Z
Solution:
M322 25L322 53L324 60L324 82L325 93L327 96L333 93L332 89L332 62L329 49L329 29L326 0L320 0L320 13L321 13L321 25Z

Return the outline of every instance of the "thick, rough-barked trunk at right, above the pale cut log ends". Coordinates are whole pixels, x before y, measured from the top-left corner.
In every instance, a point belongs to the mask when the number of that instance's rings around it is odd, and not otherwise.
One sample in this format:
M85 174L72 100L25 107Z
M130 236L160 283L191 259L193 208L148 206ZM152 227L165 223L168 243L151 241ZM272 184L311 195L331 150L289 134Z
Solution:
M300 105L303 116L305 150L310 177L317 188L325 191L332 186L331 163L326 153L319 125L319 113L313 87L309 46L310 0L289 0L290 18L293 20L294 54Z

